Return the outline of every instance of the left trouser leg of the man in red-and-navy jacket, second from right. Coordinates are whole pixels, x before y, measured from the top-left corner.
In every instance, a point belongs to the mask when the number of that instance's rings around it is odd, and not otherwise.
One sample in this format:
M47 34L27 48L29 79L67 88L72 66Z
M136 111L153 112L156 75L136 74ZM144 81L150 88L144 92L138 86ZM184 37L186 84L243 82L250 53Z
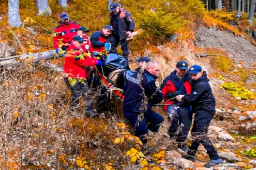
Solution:
M168 115L168 119L170 122L168 133L169 133L170 137L173 137L175 132L178 129L179 115L177 113L177 109L178 108L175 106L168 106L168 108L167 108L167 115ZM172 118L170 118L170 116Z

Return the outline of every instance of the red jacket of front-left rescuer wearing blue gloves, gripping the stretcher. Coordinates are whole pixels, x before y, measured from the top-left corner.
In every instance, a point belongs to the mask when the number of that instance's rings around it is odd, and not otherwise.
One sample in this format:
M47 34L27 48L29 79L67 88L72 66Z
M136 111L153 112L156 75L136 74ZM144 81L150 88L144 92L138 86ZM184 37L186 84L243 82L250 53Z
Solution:
M89 66L94 66L96 64L96 58L90 58L82 50L79 50L74 46L74 44L71 44L65 55L63 71L65 77L86 79L86 76L89 74Z

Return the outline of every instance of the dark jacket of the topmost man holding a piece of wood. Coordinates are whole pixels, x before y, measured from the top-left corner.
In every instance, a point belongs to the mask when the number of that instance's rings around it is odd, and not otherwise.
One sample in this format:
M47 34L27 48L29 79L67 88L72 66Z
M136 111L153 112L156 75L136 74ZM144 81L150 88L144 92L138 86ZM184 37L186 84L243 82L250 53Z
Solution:
M135 22L131 14L124 8L120 8L116 15L110 13L110 25L114 29L114 36L119 36L120 40L126 39L127 31L133 32L135 29Z

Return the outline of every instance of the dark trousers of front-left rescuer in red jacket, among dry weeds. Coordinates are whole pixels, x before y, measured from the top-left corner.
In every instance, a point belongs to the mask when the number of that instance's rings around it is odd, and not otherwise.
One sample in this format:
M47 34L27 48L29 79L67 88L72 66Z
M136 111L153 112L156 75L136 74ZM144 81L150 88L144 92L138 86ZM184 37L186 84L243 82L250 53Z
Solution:
M87 80L82 80L82 82L76 82L73 86L71 86L71 82L69 79L72 78L64 78L65 83L67 84L68 88L71 90L71 107L75 107L79 104L80 97L83 98L84 107L86 107L86 114L91 114L93 111L92 107L92 96L88 94L89 86ZM76 79L73 79L76 81Z

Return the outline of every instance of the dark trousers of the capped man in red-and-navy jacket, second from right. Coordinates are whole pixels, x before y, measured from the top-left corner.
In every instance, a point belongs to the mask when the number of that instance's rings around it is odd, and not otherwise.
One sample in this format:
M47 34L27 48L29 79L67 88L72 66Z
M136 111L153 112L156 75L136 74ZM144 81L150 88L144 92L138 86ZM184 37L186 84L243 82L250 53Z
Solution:
M184 142L187 139L188 132L192 123L192 112L189 107L174 107L167 108L167 114L172 116L172 122L169 127L168 133L173 137L178 127L183 124L180 133L177 135L177 142ZM169 117L168 116L168 117ZM170 117L169 117L170 118Z

